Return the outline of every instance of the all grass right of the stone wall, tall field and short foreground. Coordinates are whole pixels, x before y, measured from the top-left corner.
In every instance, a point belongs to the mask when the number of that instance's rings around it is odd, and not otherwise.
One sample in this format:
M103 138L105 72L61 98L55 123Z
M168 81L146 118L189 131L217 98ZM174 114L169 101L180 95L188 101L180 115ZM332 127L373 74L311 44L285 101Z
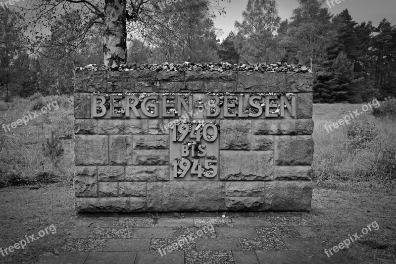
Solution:
M336 246L377 221L380 229L352 243L348 254L358 263L392 264L396 259L396 188L395 174L387 168L395 164L396 122L366 113L333 132L324 128L361 106L314 105L311 224L323 240ZM370 123L374 129L365 130ZM350 136L354 131L357 137ZM355 140L362 135L369 140Z

